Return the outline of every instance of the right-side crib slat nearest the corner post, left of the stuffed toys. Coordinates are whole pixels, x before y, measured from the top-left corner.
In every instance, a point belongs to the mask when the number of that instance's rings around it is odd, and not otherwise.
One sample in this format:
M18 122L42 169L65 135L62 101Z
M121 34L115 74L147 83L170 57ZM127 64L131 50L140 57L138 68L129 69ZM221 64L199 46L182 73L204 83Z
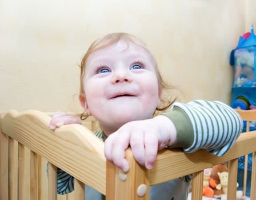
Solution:
M193 173L192 179L192 200L203 198L203 170Z

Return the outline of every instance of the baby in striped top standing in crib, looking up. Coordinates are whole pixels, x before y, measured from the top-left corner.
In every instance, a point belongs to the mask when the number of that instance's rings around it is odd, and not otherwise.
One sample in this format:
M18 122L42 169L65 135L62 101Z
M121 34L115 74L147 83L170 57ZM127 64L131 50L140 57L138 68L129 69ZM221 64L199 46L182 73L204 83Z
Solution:
M158 150L165 147L182 147L188 153L206 149L222 156L242 131L241 117L221 102L174 103L171 111L153 117L155 110L173 103L162 105L165 86L153 55L130 34L97 39L82 59L79 101L83 117L93 115L98 120L102 130L95 135L105 141L106 158L123 171L129 170L125 159L129 146L137 162L152 169ZM49 127L54 130L70 123L81 122L56 113ZM151 186L150 199L186 199L190 179L189 175ZM59 169L58 193L72 190L73 177ZM86 195L97 199L93 190Z

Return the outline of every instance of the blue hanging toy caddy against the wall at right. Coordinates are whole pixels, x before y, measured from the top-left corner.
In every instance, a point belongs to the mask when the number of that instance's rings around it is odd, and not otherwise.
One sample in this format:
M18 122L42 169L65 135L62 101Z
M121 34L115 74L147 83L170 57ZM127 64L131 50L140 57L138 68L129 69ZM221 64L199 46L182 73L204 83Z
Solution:
M256 36L251 26L251 33L240 36L237 47L230 54L230 65L234 66L235 72L231 107L235 109L256 109L255 56ZM250 124L250 130L256 130L255 122Z

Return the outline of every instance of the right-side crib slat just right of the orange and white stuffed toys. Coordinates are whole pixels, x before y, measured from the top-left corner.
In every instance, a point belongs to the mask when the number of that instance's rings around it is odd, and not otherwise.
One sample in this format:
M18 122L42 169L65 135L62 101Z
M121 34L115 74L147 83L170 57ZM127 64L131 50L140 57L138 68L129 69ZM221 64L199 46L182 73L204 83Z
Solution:
M229 185L227 187L227 199L236 199L237 195L237 167L238 158L229 161Z

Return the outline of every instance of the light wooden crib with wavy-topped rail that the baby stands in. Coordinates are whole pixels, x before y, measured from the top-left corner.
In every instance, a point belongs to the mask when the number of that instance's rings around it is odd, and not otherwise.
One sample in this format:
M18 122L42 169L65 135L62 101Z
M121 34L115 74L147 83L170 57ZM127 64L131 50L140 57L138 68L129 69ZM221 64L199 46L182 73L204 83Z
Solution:
M250 113L256 121L256 113ZM244 113L241 116L248 119ZM205 150L185 154L181 149L159 151L151 170L135 162L126 151L130 170L123 174L103 154L103 142L91 130L95 122L67 125L55 131L48 128L50 116L35 110L1 114L0 199L84 199L84 184L93 187L109 200L149 199L149 187L171 179L193 174L192 199L202 199L203 169L229 161L227 199L235 199L238 157L253 153L251 199L255 191L256 131L241 134L233 148L223 157ZM29 158L26 158L26 151ZM46 162L49 175L46 175ZM27 164L29 163L29 164ZM57 167L75 177L72 196L57 197ZM46 178L43 178L46 177ZM45 181L43 181L45 179ZM46 182L47 181L47 182ZM47 197L45 196L47 194ZM90 199L89 199L90 200Z

